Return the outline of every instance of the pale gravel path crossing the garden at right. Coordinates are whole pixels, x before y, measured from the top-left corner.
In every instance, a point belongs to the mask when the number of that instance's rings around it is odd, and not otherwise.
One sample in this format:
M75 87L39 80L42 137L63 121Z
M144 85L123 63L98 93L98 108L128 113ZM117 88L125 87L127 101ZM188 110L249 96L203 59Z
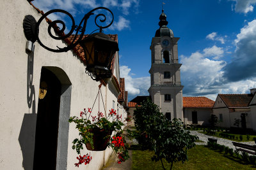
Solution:
M228 148L232 148L232 149L236 148L233 145L232 141L230 141L228 139L217 138L215 136L209 136L209 135L197 132L197 131L190 131L190 134L196 135L196 136L198 136L200 141L204 141L204 143L197 142L196 145L207 145L208 138L214 138L214 139L218 139L217 143L220 144L220 145L225 145L225 146L228 146ZM245 143L245 144L248 144L248 145L255 145L254 141L241 142L241 143Z

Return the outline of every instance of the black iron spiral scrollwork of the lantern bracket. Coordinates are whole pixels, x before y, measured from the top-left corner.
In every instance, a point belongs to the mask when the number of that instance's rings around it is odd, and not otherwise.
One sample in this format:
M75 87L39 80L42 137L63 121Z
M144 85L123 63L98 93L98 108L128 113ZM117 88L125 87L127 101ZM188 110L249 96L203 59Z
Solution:
M43 46L45 49L51 51L51 52L67 52L68 50L71 50L72 48L74 48L80 41L81 39L83 38L84 36L84 32L86 31L86 24L87 24L87 20L88 18L90 18L91 15L94 15L93 11L96 11L96 10L107 10L109 11L109 13L111 13L112 15L112 20L111 22L106 25L106 26L102 26L102 25L99 25L97 24L97 20L99 20L100 22L106 22L106 15L104 15L103 13L99 13L98 15L95 16L95 25L97 25L97 27L99 27L99 30L100 32L102 32L102 29L105 29L107 27L109 27L110 25L113 24L113 20L114 20L114 15L112 13L111 10L109 10L108 8L105 8L105 7L98 7L98 8L94 8L93 10L89 11L88 13L86 13L86 15L84 15L83 19L81 20L80 24L79 25L76 25L75 24L75 20L74 18L72 17L72 15L70 13L68 13L67 11L65 10L59 10L59 9L56 9L56 10L50 10L50 11L47 11L47 13L45 13L44 15L42 15L42 17L38 20L38 22L36 23L36 40L38 41L38 43ZM42 20L44 20L44 18L46 18L48 15L50 15L51 13L64 13L65 15L68 15L68 17L70 17L70 19L72 20L72 27L71 27L71 30L63 35L63 36L54 36L52 35L52 32L51 32L51 29L54 29L54 31L57 33L57 34L62 34L65 29L66 29L66 25L65 25L65 22L63 22L62 20L54 20L52 21L51 23L49 23L49 26L48 26L48 33L49 33L49 36L51 36L51 38L53 39L66 39L68 38L69 36L71 36L71 34L76 31L76 34L74 36L74 39L72 40L72 42L70 43L70 45L64 47L64 48L60 48L57 46L58 49L53 49L53 48L49 48L48 46L45 46L39 39L38 37L38 34L39 34L39 26L42 22ZM99 17L103 17L103 18L99 18ZM60 29L60 27L56 27L56 24L61 24L62 25L62 28ZM56 29L58 28L58 29ZM98 30L98 29L96 29ZM95 30L95 31L96 31ZM78 35L78 33L81 32L81 34ZM94 32L94 31L93 31ZM76 40L77 36L79 36L79 38Z

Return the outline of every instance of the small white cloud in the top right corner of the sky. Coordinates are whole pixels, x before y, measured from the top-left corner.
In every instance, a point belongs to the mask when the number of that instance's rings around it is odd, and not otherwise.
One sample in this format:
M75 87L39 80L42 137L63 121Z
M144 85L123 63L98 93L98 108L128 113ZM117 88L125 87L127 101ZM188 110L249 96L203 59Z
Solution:
M236 1L235 11L240 13L248 13L253 11L253 5L256 4L256 0L232 0Z

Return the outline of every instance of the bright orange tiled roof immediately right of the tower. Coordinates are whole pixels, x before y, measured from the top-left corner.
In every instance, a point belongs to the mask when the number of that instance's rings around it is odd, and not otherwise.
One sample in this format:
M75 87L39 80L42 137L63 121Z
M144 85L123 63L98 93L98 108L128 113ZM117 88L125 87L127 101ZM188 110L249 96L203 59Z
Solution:
M214 101L207 97L183 97L183 108L212 108Z

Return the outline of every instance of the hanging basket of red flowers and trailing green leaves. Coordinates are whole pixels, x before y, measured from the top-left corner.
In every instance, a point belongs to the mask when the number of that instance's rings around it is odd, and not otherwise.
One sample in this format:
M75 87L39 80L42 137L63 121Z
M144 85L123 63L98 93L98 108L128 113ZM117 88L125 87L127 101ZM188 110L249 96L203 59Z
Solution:
M89 164L92 160L92 156L88 153L80 155L83 145L91 151L103 151L108 146L111 147L118 157L118 164L129 159L128 145L122 131L122 125L124 125L121 121L122 115L118 115L113 109L109 110L108 116L105 113L105 117L102 112L98 112L97 116L92 116L91 113L91 108L87 111L84 108L80 117L70 117L68 120L76 124L80 137L72 142L72 149L79 154L77 157L79 162L75 165L79 167L80 164ZM111 137L113 131L115 134Z

